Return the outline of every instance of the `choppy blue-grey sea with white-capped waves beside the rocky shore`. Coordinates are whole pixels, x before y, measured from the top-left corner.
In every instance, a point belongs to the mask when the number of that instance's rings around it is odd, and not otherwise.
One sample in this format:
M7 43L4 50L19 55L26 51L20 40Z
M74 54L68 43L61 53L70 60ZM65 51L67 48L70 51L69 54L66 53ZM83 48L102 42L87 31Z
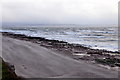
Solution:
M7 27L2 32L44 37L51 40L81 44L93 49L118 51L118 27L81 27L81 26L17 26Z

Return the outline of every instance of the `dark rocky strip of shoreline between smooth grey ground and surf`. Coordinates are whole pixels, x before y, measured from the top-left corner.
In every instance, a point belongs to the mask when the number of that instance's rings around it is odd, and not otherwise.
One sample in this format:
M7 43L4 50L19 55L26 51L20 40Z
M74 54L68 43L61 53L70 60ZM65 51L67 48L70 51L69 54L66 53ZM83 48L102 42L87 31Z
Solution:
M13 34L2 32L3 36L30 41L40 46L52 49L65 56L69 56L76 60L84 60L109 67L120 67L120 52L112 52L107 50L91 49L79 44L69 44L58 40L48 40L41 37L30 37L21 34Z

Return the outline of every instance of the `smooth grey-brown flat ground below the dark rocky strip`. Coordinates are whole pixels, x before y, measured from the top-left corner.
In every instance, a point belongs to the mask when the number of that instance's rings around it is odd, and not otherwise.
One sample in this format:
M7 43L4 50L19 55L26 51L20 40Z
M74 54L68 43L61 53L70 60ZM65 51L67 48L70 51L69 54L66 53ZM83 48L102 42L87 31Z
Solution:
M25 78L117 78L117 71L76 61L27 41L2 38L2 57Z

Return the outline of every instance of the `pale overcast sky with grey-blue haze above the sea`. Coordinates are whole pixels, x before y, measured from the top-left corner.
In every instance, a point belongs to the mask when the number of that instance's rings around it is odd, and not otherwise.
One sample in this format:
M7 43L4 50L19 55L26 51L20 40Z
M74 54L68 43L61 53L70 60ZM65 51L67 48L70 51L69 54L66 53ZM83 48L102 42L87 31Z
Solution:
M3 23L118 24L119 0L2 0Z

